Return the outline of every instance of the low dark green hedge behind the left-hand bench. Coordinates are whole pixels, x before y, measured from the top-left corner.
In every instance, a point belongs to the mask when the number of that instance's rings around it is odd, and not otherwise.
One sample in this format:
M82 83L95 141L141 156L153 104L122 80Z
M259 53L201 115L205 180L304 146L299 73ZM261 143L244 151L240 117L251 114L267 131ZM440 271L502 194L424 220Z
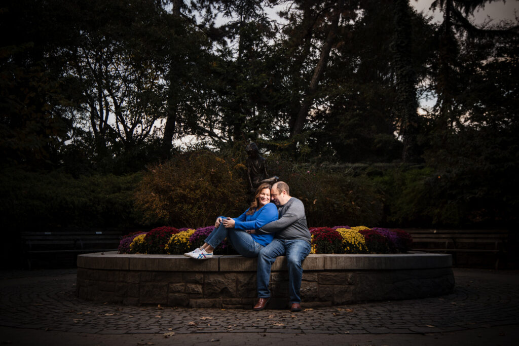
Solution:
M60 171L0 172L4 227L127 227L134 224L132 191L140 174L74 178Z

